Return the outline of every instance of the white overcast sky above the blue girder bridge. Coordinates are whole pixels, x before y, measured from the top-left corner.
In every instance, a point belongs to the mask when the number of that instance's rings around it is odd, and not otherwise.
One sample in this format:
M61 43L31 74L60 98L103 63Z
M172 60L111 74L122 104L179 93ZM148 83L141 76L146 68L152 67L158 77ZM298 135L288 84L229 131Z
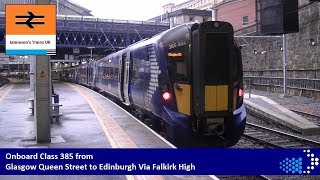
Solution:
M71 0L91 10L99 18L147 20L163 13L162 6L187 0Z

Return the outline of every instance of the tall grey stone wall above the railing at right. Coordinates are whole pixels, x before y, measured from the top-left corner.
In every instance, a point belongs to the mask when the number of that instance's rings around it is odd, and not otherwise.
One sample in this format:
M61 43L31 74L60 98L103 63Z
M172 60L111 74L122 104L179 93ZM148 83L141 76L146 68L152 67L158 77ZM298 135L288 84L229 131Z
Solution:
M320 79L320 2L299 1L299 33L287 35L287 68L292 78ZM255 26L235 35L255 35ZM282 37L235 38L242 48L245 76L282 77ZM315 42L311 45L310 40Z

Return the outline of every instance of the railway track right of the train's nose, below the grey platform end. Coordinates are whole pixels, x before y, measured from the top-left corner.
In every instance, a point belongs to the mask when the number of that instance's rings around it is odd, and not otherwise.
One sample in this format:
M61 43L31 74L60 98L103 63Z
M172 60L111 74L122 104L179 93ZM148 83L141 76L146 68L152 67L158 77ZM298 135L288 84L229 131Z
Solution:
M247 123L244 138L271 148L320 147L320 142Z

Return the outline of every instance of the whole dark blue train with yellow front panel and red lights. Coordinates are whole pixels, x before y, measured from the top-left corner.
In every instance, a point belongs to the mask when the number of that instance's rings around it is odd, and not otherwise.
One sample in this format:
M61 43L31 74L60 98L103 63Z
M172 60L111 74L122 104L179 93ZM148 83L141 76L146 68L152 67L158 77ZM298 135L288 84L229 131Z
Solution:
M241 51L228 22L182 24L58 73L149 117L181 146L231 147L245 129Z

